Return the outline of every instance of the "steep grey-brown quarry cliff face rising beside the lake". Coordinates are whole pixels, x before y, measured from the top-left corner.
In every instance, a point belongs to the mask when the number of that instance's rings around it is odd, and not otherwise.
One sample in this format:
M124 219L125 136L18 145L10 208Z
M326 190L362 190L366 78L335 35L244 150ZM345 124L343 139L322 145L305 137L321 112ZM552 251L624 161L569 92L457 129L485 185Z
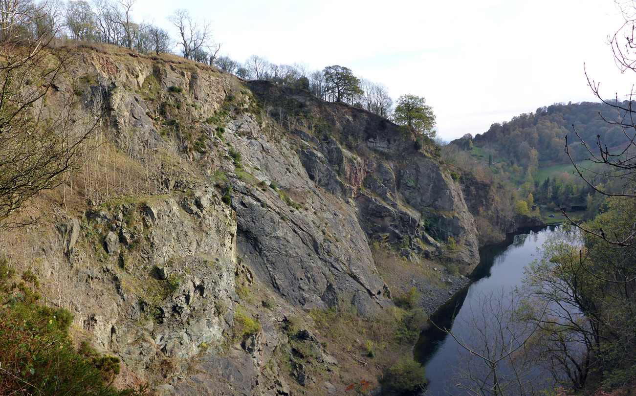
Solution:
M48 263L39 276L52 288L64 275L67 294L50 303L122 359L122 386L342 393L355 377L308 312L393 309L391 293L411 284L382 278L370 245L420 268L408 275L420 304L459 287L457 273L435 268L436 283L426 268L477 263L459 184L390 121L176 57L80 55L59 90L105 114L110 165L86 160L74 205L66 189L63 209L42 198L48 239L7 246Z

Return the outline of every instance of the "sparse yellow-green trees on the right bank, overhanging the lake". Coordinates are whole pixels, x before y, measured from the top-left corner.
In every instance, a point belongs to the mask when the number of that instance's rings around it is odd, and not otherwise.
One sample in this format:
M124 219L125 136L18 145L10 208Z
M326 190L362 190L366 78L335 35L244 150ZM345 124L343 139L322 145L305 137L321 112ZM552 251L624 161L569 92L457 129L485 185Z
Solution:
M625 287L636 278L633 200L609 198L607 210L583 225L586 231L555 232L523 280L524 317L539 326L537 353L561 362L556 372L570 371L559 379L572 388L633 385L636 296ZM558 308L564 306L569 315ZM563 339L576 339L577 346ZM563 356L572 360L558 360Z

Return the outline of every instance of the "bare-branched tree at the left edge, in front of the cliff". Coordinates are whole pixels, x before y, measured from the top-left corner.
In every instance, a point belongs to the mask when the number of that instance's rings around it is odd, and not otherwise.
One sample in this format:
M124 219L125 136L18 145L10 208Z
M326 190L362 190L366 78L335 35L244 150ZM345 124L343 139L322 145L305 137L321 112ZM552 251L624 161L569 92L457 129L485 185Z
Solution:
M73 167L81 142L93 131L90 126L78 128L92 121L74 111L72 94L56 93L55 111L46 106L51 87L73 54L48 48L54 32L38 38L18 34L32 18L41 17L21 10L0 9L0 34L8 34L0 41L2 226L32 196L60 184L59 176Z

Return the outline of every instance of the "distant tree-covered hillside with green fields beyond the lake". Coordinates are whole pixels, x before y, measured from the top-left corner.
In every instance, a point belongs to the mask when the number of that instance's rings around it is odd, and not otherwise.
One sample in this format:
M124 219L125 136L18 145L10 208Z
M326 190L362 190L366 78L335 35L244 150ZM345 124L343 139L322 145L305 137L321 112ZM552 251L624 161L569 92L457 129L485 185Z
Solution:
M569 102L539 107L510 121L494 123L487 132L474 137L467 134L453 140L445 147L446 158L466 172L510 191L515 214L529 214L533 205L541 205L544 216L562 207L583 211L583 218L591 219L604 202L593 186L612 193L625 186L623 177L614 177L615 170L590 161L590 151L598 147L620 155L629 146L630 140L618 121L621 113L617 106L628 108L630 102ZM578 177L573 163L591 171L588 182Z

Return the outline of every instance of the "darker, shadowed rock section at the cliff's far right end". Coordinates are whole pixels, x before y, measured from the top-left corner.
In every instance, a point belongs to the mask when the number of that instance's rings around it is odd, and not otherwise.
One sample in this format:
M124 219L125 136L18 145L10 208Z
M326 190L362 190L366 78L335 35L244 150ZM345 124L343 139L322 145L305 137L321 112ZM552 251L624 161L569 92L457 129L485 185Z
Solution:
M292 131L301 140L298 158L316 186L347 205L354 200L357 222L368 240L388 240L431 257L440 252L439 242L429 235L435 233L444 243L449 238L457 243L468 268L478 263L476 228L459 184L441 170L439 161L415 151L408 133L375 114L326 106L289 88L263 81L250 87L261 100L280 100L287 107L291 97L329 125L329 135Z

